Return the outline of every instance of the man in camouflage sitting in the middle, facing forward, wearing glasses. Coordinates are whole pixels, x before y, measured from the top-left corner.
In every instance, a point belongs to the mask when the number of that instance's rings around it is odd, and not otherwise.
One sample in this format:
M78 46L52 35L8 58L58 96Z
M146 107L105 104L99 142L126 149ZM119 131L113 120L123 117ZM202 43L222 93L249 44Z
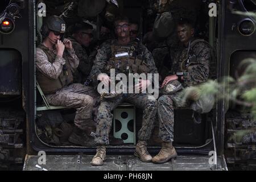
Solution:
M108 76L105 76L104 79L109 81L110 69L116 68L115 63L119 63L118 60L114 58L116 55L115 53L117 52L127 51L129 53L130 63L133 62L131 63L132 65L129 65L129 67L131 68L131 73L158 73L155 67L154 59L151 53L147 50L147 48L142 46L143 55L140 56L140 53L138 53L137 49L137 43L130 41L129 29L129 20L127 18L120 18L115 20L115 32L118 36L118 40L113 40L111 44L104 43L102 47L98 49L98 53L96 55L96 59L94 61L91 72L95 86L97 86L98 83L97 77L101 75L101 73L108 74ZM124 40L124 42L122 42L122 40ZM139 57L141 58L139 59ZM119 71L121 73L125 73L125 69L122 69L122 63L126 63L126 61L121 61ZM135 63L139 64L135 65ZM146 65L146 67L143 67L143 63L144 65ZM127 68L127 65L125 65L125 68ZM102 81L104 80L102 79ZM142 80L142 82L145 83L146 80ZM111 111L123 101L134 104L135 106L144 110L142 127L141 130L139 130L138 132L139 141L135 150L135 156L138 156L144 162L151 161L151 156L146 150L146 145L147 140L150 138L151 131L154 127L154 121L157 113L157 101L149 99L148 96L151 95L143 93L121 93L113 98L102 97L101 105L98 109L97 115L98 122L95 142L98 147L97 153L91 162L93 166L101 166L103 164L103 161L105 160L105 146L109 144L109 132L111 130L113 119L113 114L111 113Z

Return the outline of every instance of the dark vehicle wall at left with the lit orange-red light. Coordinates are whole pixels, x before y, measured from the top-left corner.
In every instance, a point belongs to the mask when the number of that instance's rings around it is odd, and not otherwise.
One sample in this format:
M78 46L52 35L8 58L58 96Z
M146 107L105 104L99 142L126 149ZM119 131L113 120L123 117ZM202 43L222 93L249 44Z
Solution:
M26 155L26 101L30 94L34 97L27 88L34 80L29 70L34 69L30 69L33 43L28 41L30 19L25 4L0 1L0 170L20 169Z

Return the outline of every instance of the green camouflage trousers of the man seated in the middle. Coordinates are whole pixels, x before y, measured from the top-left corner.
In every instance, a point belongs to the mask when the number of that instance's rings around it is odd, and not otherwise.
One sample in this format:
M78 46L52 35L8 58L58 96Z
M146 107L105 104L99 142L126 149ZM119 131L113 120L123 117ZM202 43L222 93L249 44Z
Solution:
M154 128L154 121L157 114L157 101L150 100L150 94L120 94L115 100L101 101L97 115L97 130L96 130L96 144L108 145L109 133L112 126L113 114L111 113L123 101L134 104L143 110L142 127L138 131L138 139L147 141L150 139L152 129Z

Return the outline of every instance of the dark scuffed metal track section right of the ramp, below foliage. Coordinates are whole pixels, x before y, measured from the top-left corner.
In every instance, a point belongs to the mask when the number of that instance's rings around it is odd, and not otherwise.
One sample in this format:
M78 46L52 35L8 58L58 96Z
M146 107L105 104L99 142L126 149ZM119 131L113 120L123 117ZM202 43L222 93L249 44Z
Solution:
M250 113L226 117L226 162L231 169L256 169L256 120Z

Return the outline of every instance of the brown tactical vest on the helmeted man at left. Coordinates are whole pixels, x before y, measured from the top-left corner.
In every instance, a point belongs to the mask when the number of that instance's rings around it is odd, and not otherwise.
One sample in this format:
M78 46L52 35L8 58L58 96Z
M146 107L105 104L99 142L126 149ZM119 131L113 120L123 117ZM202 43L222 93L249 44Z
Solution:
M48 61L53 63L56 59L56 54L48 49L47 47L43 46L42 44L39 46L40 49L46 53ZM44 94L53 94L56 93L58 90L72 84L73 82L73 75L71 71L71 65L67 59L67 53L64 51L63 58L66 60L65 66L63 66L63 70L60 73L60 76L55 80L53 78L49 78L45 73L40 72L36 69L36 80L39 82L41 89L43 90Z

